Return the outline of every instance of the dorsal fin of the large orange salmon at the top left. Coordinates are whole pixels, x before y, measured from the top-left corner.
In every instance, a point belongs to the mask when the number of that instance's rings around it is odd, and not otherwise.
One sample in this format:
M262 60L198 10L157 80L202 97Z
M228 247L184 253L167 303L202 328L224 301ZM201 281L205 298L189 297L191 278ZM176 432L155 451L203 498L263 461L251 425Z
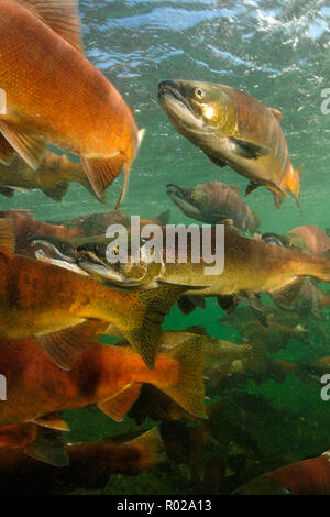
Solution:
M77 0L16 0L34 16L84 54Z

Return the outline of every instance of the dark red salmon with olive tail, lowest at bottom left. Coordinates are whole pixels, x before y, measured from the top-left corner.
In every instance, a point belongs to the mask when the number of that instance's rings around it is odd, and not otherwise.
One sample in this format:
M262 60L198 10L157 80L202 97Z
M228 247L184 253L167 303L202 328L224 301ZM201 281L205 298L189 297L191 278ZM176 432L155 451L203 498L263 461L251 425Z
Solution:
M0 494L41 495L72 493L81 487L101 488L112 473L139 474L166 462L164 442L157 428L120 443L103 439L66 444L64 451L69 464L58 469L19 450L0 449Z

